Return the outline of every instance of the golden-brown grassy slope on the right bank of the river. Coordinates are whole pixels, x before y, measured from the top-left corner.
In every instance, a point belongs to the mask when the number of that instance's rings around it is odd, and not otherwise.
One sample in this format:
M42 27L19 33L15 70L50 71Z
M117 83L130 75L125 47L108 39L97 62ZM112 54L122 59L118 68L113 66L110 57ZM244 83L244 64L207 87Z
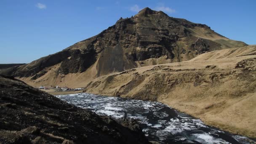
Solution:
M160 101L208 125L256 138L255 88L256 45L250 45L101 76L85 91Z

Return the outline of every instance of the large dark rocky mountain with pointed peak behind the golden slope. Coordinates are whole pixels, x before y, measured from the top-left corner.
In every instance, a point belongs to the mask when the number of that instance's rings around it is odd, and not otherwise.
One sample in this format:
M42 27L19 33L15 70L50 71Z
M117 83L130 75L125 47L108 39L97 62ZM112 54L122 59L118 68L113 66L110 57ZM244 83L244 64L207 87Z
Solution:
M186 61L202 53L246 46L205 24L144 8L99 35L2 72L30 85L84 86L95 77L155 64Z

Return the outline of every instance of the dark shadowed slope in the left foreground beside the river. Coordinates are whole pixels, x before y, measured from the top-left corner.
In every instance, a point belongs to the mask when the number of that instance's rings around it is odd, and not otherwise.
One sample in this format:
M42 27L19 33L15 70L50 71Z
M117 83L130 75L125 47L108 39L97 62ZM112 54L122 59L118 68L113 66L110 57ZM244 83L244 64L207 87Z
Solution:
M147 144L135 121L67 104L11 77L0 76L2 144Z

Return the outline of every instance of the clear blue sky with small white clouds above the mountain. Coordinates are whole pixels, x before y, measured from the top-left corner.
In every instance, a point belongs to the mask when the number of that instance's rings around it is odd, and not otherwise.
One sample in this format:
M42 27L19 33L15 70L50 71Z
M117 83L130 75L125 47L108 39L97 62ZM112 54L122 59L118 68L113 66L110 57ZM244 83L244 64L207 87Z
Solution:
M0 64L29 63L149 7L256 44L256 0L0 0Z

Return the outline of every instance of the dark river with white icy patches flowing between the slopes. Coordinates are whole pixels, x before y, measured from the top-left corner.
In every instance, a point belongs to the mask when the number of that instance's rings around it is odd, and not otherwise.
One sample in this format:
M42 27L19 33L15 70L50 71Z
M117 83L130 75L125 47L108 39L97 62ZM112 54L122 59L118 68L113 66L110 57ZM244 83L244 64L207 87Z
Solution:
M205 125L201 120L177 112L165 104L107 97L89 93L61 95L58 98L115 119L139 121L150 141L177 144L251 144L255 141Z

